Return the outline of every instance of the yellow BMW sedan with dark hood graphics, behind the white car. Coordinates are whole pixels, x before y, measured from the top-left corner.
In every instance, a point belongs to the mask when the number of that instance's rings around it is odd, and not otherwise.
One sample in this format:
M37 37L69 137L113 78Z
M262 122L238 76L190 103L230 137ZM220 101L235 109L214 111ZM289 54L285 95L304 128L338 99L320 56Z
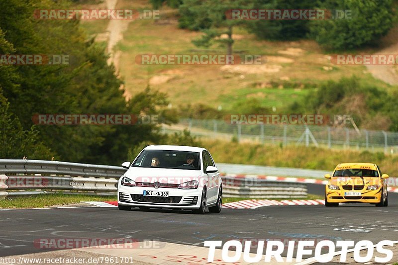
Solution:
M342 163L337 165L325 187L325 206L339 206L339 202L372 203L386 207L389 204L387 174L373 163Z

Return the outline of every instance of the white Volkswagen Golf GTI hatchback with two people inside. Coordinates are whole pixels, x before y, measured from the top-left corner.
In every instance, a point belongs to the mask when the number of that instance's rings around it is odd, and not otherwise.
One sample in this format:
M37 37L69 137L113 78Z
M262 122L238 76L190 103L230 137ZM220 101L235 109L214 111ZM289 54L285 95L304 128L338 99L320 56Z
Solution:
M204 214L219 213L222 180L210 153L199 147L151 145L133 163L117 185L120 210L171 208Z

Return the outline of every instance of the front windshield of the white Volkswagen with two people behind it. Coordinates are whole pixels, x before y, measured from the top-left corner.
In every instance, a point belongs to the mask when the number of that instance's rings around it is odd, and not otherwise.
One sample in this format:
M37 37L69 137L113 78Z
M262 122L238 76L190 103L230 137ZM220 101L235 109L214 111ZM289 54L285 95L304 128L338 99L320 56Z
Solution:
M170 150L144 150L134 161L132 167L200 170L199 153Z

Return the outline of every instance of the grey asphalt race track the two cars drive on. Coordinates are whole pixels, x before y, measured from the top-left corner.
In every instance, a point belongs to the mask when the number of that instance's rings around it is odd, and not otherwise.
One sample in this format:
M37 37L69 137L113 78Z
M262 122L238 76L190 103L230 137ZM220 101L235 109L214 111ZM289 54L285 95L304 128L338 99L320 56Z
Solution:
M323 185L308 184L323 194ZM46 238L133 238L202 246L204 240L232 239L398 239L398 193L389 207L370 204L268 206L223 209L220 214L117 208L0 210L0 257L47 252L33 245Z

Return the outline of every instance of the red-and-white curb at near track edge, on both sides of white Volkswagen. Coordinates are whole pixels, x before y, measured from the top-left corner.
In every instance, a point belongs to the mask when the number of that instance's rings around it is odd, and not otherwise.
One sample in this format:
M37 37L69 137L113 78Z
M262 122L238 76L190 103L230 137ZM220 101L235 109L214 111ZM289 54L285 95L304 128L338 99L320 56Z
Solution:
M82 201L98 207L117 207L117 201ZM227 202L222 204L225 209L256 209L264 206L276 205L319 205L325 204L324 200L267 200L267 199L252 199L240 200L234 202Z

